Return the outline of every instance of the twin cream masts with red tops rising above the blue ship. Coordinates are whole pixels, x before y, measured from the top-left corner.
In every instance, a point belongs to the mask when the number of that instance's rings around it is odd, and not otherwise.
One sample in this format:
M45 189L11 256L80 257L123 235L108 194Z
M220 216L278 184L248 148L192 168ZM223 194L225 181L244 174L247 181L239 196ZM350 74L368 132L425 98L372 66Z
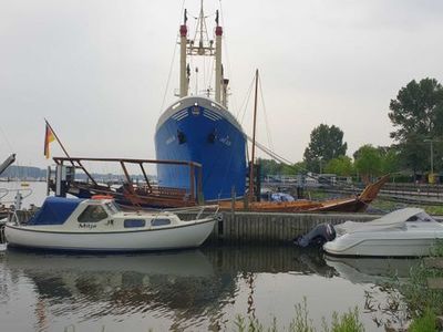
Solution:
M206 17L200 0L200 10L197 18L197 31L194 39L187 39L187 11L185 9L184 22L179 28L181 68L179 68L179 97L185 97L189 90L189 64L187 55L215 56L215 101L227 106L227 85L229 80L224 77L222 64L222 38L223 28L219 25L218 10L216 11L215 45L209 40L206 27Z

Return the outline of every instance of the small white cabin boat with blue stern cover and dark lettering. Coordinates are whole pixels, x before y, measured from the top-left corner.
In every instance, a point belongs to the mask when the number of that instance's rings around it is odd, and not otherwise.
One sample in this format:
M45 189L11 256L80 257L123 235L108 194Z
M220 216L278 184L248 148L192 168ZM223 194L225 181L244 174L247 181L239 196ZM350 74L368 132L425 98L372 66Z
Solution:
M7 222L8 246L80 251L140 251L200 246L214 229L217 206L182 220L172 211L122 211L112 199L48 197L39 211Z

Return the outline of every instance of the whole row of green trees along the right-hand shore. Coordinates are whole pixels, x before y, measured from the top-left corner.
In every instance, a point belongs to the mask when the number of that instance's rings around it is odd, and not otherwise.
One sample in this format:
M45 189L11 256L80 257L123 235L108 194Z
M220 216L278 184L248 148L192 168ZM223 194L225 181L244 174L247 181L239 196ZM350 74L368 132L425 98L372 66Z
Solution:
M390 146L365 144L351 158L347 156L343 131L320 124L310 134L302 162L284 165L261 159L262 174L331 173L359 175L364 180L387 173L403 173L414 179L439 173L443 168L442 85L430 77L411 81L391 100L388 116L394 128L390 133L394 143Z

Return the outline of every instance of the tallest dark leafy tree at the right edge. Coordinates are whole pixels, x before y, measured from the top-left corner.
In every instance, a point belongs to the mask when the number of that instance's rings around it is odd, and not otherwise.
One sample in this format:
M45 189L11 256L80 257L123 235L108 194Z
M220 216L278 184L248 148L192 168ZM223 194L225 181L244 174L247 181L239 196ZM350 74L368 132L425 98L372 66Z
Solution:
M430 149L425 139L443 141L443 87L435 79L413 80L391 100L389 118L395 131L391 137L398 142L402 165L414 174L430 164ZM441 149L435 151L435 166L442 167Z

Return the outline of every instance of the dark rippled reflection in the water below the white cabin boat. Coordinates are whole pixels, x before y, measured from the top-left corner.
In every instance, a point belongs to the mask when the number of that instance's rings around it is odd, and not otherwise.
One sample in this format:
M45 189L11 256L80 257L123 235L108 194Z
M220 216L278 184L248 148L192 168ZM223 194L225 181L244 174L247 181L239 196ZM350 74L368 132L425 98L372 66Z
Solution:
M11 280L32 280L42 303L56 314L82 312L82 320L132 312L156 312L177 321L218 312L230 297L231 278L217 278L199 250L132 256L69 256L9 251L3 261Z

